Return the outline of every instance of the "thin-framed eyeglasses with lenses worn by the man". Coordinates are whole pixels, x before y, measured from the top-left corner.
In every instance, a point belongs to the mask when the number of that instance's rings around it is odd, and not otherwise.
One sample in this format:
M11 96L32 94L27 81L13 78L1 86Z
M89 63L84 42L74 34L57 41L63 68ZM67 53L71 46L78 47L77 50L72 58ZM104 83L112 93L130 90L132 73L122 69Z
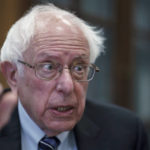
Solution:
M43 80L57 79L61 75L63 69L69 69L73 80L90 81L93 79L95 72L100 71L95 64L74 64L70 67L63 67L61 64L54 62L37 63L34 66L22 60L18 60L18 62L31 69L34 69L35 75L39 79Z

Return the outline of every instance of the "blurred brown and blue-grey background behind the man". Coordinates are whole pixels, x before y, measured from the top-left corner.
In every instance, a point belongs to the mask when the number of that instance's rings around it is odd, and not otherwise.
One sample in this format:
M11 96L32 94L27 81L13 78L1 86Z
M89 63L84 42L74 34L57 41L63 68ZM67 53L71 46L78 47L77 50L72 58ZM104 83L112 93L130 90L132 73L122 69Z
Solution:
M150 0L1 0L0 46L10 26L27 9L52 2L103 29L101 72L90 82L88 97L135 112L150 135ZM7 86L0 74L0 82Z

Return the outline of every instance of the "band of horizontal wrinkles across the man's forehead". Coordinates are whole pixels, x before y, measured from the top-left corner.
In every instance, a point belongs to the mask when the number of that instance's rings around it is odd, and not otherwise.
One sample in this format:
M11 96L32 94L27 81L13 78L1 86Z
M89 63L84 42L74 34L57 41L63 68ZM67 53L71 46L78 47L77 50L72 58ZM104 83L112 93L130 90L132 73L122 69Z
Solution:
M33 46L36 50L84 50L89 51L88 44L86 40L82 40L76 37L64 37L60 38L58 36L45 36L36 37L33 40Z

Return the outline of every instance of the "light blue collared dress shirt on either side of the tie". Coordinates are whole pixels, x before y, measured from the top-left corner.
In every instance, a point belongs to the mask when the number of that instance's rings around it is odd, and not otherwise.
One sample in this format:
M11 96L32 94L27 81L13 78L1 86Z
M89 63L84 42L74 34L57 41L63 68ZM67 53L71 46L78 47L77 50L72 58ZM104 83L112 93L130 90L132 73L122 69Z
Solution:
M30 118L21 102L18 102L19 119L21 123L21 147L22 150L38 150L38 143L45 136L45 133ZM58 150L77 150L75 137L72 131L66 131L57 138L61 144Z

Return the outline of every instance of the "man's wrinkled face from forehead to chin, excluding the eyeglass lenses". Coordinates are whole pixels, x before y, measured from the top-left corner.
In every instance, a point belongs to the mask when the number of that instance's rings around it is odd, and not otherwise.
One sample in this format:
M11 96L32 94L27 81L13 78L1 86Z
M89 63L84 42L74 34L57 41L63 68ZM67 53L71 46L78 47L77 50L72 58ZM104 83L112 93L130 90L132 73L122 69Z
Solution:
M55 62L64 68L88 64L88 42L77 27L64 22L53 23L45 31L37 27L24 61L32 65ZM18 94L30 117L49 136L71 130L83 114L88 83L73 80L68 69L47 81L37 78L33 69L22 67L24 74L17 76Z

